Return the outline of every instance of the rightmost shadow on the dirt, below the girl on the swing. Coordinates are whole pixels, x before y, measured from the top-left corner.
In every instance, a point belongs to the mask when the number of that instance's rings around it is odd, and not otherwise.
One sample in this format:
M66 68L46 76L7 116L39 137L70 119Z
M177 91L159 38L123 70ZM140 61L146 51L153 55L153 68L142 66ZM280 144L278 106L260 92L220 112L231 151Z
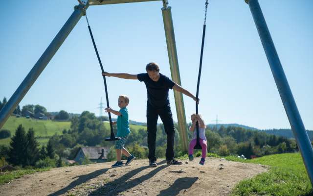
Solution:
M172 186L161 191L157 196L177 196L181 190L189 189L198 179L198 177L179 178Z

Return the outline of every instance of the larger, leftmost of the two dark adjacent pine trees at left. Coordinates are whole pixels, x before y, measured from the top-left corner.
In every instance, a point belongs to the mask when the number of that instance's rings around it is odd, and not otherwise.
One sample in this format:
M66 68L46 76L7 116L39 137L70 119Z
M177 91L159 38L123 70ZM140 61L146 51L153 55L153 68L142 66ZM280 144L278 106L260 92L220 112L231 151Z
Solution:
M26 145L27 140L25 130L22 127L22 124L20 124L10 142L8 161L11 164L25 166Z

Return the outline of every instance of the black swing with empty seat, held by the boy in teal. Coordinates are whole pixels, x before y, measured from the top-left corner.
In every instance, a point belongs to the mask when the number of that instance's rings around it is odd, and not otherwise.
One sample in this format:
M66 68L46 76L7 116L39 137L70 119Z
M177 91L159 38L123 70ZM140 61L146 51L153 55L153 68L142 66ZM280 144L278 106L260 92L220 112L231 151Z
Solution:
M101 67L101 71L102 71L102 73L104 73L104 69L103 69L103 66L102 66L102 63L101 63L101 59L100 59L100 56L99 56L99 53L98 53L98 49L97 49L96 44L94 42L93 35L92 35L92 32L91 32L91 28L90 28L90 25L89 25L89 21L88 21L88 18L87 18L87 13L86 13L85 16L86 16L86 20L87 20L88 29L89 29L90 37L91 37L91 40L92 40L93 48L94 48L94 50L95 50L95 52L97 54L97 58L98 58L98 61L99 61L100 67ZM105 89L105 92L106 92L107 108L109 108L110 107L110 105L109 105L109 96L108 96L107 80L106 80L106 76L105 75L103 75L103 81L104 81L104 89ZM105 140L106 141L120 140L121 138L118 138L118 137L114 136L113 126L112 126L112 118L111 118L111 113L110 112L109 112L109 120L110 120L110 128L111 128L111 137L110 138L106 138Z

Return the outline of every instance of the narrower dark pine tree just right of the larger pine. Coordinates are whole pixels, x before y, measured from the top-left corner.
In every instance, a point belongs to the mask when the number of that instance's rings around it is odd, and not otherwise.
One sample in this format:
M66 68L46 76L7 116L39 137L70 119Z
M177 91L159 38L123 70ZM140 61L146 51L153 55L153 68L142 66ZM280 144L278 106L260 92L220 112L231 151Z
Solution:
M26 135L27 138L27 145L26 145L26 165L34 166L35 163L39 159L39 149L38 149L38 142L35 139L35 132L33 128L28 130Z

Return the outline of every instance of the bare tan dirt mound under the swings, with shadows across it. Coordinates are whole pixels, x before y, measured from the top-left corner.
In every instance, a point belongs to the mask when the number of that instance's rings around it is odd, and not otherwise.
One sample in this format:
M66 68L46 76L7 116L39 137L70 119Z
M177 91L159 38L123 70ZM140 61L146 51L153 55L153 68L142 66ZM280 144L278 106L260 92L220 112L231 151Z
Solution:
M111 168L114 162L55 168L25 175L0 186L1 196L226 196L241 180L267 172L268 166L207 158L182 160L167 166L158 160L134 160L129 166Z

